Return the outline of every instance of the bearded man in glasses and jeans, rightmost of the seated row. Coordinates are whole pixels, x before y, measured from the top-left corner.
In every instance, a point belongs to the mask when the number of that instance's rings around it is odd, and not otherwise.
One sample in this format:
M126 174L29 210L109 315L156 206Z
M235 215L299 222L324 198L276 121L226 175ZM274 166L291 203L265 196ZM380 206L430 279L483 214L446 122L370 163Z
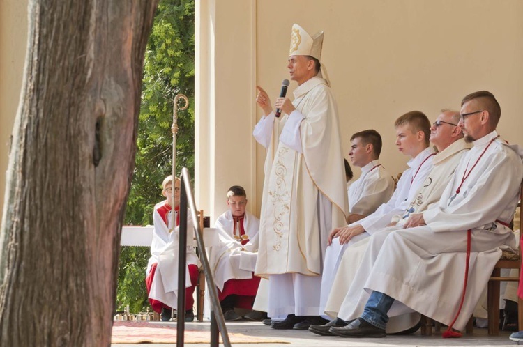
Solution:
M334 334L384 337L389 316L414 310L449 325L444 337L460 336L451 328L464 329L501 248L515 248L508 224L520 197L522 153L497 134L501 108L492 93L467 95L460 116L473 148L437 206L410 215L405 229L370 240L363 259L372 264L363 286L370 297L362 314L361 302L353 303L354 321L331 327Z

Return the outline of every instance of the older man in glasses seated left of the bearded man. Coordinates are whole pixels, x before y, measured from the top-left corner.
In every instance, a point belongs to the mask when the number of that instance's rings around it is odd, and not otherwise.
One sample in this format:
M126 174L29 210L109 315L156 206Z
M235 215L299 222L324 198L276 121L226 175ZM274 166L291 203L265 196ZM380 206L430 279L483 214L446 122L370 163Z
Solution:
M434 167L423 184L418 188L415 198L409 203L406 210L389 220L390 224L394 226L389 226L382 230L394 231L402 229L411 213L426 210L429 206L439 201L457 164L460 163L463 155L470 148L470 144L467 144L463 139L461 128L457 126L459 121L459 112L448 109L441 110L441 114L430 127L430 141L438 150L437 155L434 156ZM365 268L365 264L361 266L359 264L361 264L368 242L379 234L381 234L381 231L377 231L370 238L356 242L344 253L333 283L335 290L331 291L325 308L328 316L333 318L338 316L340 319L335 319L332 323L330 322L322 326L311 326L309 328L310 331L320 335L333 335L329 332L331 326L347 325L344 323L346 316L343 302L344 300L350 302L355 295L358 298L360 295L366 295L366 292L363 291L363 284L365 284L366 280L365 275L370 269ZM358 276L355 278L356 274ZM363 307L361 310L363 312ZM393 333L409 330L418 321L419 314L404 315L400 319L391 320L387 326L387 332Z

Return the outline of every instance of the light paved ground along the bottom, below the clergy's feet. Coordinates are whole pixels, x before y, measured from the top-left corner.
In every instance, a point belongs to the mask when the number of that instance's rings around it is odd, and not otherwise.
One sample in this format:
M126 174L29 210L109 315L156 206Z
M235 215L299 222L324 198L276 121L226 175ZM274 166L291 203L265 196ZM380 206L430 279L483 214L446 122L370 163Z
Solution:
M176 325L176 323L172 323ZM194 330L209 331L209 323L187 323L186 327ZM389 336L382 339L344 339L342 337L320 337L312 332L298 330L275 330L262 325L261 323L252 322L234 322L227 323L229 332L238 332L248 336L265 337L267 339L277 338L288 341L290 344L233 344L234 347L340 347L340 346L517 346L517 344L508 339L509 332L500 332L499 337L490 337L486 329L474 329L472 335L464 335L460 339L442 339L441 335L435 332L430 337L421 336L416 332L409 336ZM136 345L113 344L112 347L135 347ZM174 346L166 344L144 344L144 347L165 347ZM209 344L188 344L187 346L209 346ZM222 345L220 345L222 346Z

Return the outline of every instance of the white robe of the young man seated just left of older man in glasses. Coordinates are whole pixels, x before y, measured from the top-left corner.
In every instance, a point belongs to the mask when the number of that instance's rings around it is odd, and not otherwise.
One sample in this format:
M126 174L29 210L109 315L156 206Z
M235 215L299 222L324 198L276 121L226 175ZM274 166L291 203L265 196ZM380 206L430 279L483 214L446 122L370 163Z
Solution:
M365 232L355 236L345 245L340 245L340 239L335 238L332 245L327 247L323 278L321 279L320 314L324 314L328 297L331 291L333 291L333 288L335 288L333 282L345 250L356 242L368 238L370 234L375 231L390 224L391 218L394 215L404 213L409 202L414 200L414 196L416 196L416 192L421 186L421 183L423 183L430 173L433 160L434 150L430 147L425 148L425 150L416 155L416 157L409 160L409 162L407 162L409 169L403 172L391 199L381 204L374 213L351 224L351 226L361 224L365 228ZM387 176L390 175L387 174ZM351 187L353 185L351 185ZM334 290L338 292L337 288Z

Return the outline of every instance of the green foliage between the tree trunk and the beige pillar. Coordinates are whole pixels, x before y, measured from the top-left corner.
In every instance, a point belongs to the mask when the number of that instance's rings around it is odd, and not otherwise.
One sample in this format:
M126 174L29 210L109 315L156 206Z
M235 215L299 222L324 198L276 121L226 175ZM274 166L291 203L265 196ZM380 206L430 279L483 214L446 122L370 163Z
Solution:
M145 52L142 103L137 135L136 167L128 198L125 224L153 223L153 207L164 197L162 180L172 173L173 100L189 98L189 108L178 111L176 175L195 167L195 2L160 0ZM183 105L183 100L181 100ZM116 309L127 304L131 312L148 305L146 247L122 247Z

